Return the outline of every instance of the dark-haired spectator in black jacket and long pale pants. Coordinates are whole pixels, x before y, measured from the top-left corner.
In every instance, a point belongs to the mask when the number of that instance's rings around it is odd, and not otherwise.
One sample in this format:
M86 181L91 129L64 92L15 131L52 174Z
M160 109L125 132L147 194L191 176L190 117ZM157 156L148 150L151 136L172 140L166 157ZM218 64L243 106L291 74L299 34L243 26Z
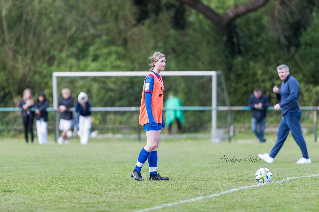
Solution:
M35 125L37 126L37 135L39 144L48 144L48 111L49 102L44 93L39 93L38 99L34 104Z

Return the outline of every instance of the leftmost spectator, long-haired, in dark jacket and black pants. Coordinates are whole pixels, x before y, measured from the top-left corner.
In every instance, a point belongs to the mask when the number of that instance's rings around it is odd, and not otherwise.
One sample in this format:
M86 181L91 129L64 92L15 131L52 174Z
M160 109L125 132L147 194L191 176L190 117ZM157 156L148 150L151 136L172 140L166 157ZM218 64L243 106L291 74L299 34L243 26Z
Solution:
M22 122L24 127L24 136L26 138L26 142L28 143L28 131L31 134L31 143L33 143L33 118L34 112L30 111L30 108L33 107L34 100L32 98L32 93L29 88L24 90L23 98L19 102L19 107L23 108L21 113Z

